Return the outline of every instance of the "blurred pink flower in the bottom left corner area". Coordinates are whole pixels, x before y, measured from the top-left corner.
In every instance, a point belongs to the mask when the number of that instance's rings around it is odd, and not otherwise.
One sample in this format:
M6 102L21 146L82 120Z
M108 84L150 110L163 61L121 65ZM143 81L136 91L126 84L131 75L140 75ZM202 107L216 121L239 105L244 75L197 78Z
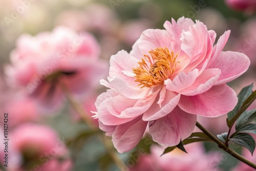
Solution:
M31 169L37 165L41 170L49 171L57 166L67 165L58 161L68 155L65 144L58 139L58 135L48 126L33 123L21 124L10 134L10 148L22 156L21 163L16 164L18 169ZM67 160L68 161L68 160ZM70 168L69 165L67 165ZM45 168L45 169L43 169ZM69 170L66 167L58 170Z

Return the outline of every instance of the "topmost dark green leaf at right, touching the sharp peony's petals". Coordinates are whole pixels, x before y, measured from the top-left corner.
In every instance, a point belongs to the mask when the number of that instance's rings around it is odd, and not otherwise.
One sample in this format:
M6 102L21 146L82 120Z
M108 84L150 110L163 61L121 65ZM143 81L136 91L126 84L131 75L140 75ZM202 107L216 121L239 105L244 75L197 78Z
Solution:
M238 103L234 107L234 109L227 113L228 120L232 119L236 113L238 113L239 109L243 105L244 101L250 96L252 92L253 83L249 86L244 87L241 92L238 94Z

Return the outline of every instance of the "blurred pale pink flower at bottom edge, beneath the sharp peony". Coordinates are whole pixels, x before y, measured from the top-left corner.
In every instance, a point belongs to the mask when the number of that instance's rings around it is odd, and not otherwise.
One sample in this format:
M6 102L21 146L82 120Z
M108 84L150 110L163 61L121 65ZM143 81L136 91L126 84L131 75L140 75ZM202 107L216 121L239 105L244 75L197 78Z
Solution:
M218 152L206 154L201 143L185 145L188 154L176 148L174 151L163 154L164 148L153 145L151 154L141 156L130 171L204 171L220 170L218 163L221 158ZM132 163L132 162L131 162Z

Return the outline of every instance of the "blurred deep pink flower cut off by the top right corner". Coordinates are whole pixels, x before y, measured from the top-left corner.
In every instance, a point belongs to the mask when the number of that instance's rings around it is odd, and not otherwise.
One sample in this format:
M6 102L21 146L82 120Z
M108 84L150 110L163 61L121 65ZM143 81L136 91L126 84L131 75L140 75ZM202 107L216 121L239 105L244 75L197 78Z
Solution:
M235 10L256 10L255 0L226 0L226 4Z

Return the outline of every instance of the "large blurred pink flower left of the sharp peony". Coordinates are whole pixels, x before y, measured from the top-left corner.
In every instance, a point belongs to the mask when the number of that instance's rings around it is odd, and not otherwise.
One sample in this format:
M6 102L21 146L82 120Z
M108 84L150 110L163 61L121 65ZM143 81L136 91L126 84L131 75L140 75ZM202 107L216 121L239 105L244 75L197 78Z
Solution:
M91 34L58 27L52 33L22 35L5 72L10 83L26 87L42 106L51 109L62 102L60 84L77 96L93 92L107 67L99 60L99 52Z

